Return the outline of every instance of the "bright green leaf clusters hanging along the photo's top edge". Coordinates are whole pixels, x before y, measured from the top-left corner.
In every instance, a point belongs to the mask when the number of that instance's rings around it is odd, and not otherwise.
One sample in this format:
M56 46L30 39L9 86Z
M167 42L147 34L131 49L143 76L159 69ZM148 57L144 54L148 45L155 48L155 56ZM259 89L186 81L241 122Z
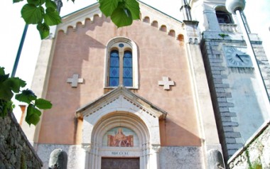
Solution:
M23 0L13 0L17 3ZM73 2L75 0L72 0ZM139 3L136 0L98 0L99 9L106 17L111 17L117 28L130 26L133 20L140 18ZM35 24L41 39L50 34L50 26L61 23L60 14L53 0L27 0L21 9L26 24Z

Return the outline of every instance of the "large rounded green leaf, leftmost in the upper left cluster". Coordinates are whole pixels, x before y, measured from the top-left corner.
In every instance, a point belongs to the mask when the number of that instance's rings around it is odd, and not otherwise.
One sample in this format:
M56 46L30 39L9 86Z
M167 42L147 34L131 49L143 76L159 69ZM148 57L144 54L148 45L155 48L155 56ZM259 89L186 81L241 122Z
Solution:
M42 6L35 6L34 4L26 4L21 9L21 16L26 24L37 24L43 20L44 9Z

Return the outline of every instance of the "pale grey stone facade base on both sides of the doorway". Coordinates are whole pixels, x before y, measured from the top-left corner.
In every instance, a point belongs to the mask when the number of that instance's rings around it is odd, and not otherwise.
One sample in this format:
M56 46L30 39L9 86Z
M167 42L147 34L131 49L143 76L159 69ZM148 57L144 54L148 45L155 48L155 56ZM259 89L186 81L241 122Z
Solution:
M68 168L87 168L87 147L80 145L38 144L38 156L43 161L43 168L48 168L50 153L55 149L68 153ZM161 169L168 168L203 168L202 147L168 146L159 150L158 165Z

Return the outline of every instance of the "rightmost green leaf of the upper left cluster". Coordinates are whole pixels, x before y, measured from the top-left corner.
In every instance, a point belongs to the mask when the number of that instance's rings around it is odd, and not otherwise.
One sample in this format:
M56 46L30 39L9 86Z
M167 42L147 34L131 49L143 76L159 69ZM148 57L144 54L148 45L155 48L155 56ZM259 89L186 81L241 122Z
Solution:
M48 7L43 17L44 17L44 22L48 26L54 26L61 23L61 17L59 16L58 11L56 11L56 9L54 8Z

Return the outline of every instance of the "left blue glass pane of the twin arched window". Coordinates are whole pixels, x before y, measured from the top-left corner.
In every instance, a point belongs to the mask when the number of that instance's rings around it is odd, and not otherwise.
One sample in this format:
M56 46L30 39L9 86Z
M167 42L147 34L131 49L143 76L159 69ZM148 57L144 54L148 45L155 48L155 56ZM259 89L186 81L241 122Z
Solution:
M119 85L119 53L112 50L109 58L109 86Z

